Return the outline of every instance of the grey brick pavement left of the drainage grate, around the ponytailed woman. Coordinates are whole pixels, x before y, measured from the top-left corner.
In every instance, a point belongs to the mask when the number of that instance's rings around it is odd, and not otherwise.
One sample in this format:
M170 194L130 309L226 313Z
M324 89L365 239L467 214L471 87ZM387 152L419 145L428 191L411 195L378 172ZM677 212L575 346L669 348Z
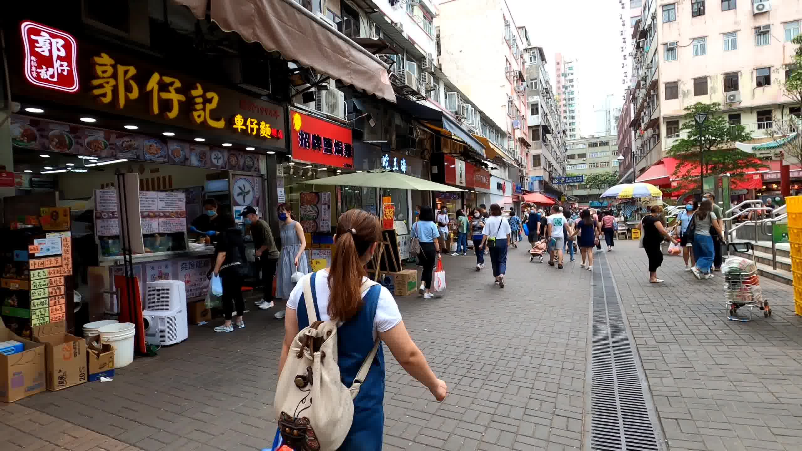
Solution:
M557 270L511 250L502 290L492 284L489 260L480 273L474 262L444 256L447 295L398 299L451 393L435 402L386 352L384 449L581 448L591 274L578 262ZM270 405L282 323L272 316L250 311L248 327L230 334L190 326L187 342L137 358L111 382L12 405L148 451L261 449L275 431Z

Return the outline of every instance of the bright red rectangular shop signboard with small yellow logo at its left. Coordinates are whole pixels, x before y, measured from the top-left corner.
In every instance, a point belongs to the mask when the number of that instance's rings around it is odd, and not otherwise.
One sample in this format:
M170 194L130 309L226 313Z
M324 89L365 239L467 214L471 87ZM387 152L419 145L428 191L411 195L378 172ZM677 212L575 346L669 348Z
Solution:
M336 168L354 167L350 128L290 108L290 135L294 160Z

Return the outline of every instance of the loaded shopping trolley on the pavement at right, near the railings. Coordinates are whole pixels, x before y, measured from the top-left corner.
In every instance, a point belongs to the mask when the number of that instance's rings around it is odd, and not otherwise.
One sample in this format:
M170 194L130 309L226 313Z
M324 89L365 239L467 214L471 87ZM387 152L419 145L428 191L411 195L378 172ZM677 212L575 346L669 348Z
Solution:
M733 242L727 244L727 255L730 250L742 254L751 252L752 259L743 257L728 257L721 266L724 278L724 302L727 307L727 318L732 321L747 322L751 320L752 310L755 307L763 311L764 318L772 315L772 307L764 299L763 289L757 274L757 261L755 260L755 246L751 242ZM738 316L738 309L746 307L749 316Z

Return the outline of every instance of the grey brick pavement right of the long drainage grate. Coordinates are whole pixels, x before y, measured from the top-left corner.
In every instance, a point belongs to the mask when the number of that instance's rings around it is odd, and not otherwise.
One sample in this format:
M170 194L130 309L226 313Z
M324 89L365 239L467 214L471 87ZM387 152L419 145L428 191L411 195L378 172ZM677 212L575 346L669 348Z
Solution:
M790 286L761 278L772 317L727 319L720 273L667 257L650 284L636 242L606 253L671 451L802 449L802 318Z

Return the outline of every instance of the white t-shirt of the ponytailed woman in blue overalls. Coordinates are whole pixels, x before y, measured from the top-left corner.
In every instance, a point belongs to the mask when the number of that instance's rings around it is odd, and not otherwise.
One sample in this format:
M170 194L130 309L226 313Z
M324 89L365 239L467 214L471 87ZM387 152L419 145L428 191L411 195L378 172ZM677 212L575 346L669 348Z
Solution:
M331 296L329 291L329 271L319 270L317 274L314 278L314 288L318 298L318 310L322 316L320 319L328 321L331 319L329 316L329 298ZM362 278L363 282L366 280L367 278ZM366 294L367 290L362 292L363 297ZM290 293L290 299L287 299L287 308L297 311L301 295L303 295L303 285L298 283ZM379 291L379 305L376 306L376 315L373 318L373 339L376 339L377 331L389 331L400 322L401 312L399 311L399 306L395 303L395 298L393 298L390 291L382 286L381 291Z

